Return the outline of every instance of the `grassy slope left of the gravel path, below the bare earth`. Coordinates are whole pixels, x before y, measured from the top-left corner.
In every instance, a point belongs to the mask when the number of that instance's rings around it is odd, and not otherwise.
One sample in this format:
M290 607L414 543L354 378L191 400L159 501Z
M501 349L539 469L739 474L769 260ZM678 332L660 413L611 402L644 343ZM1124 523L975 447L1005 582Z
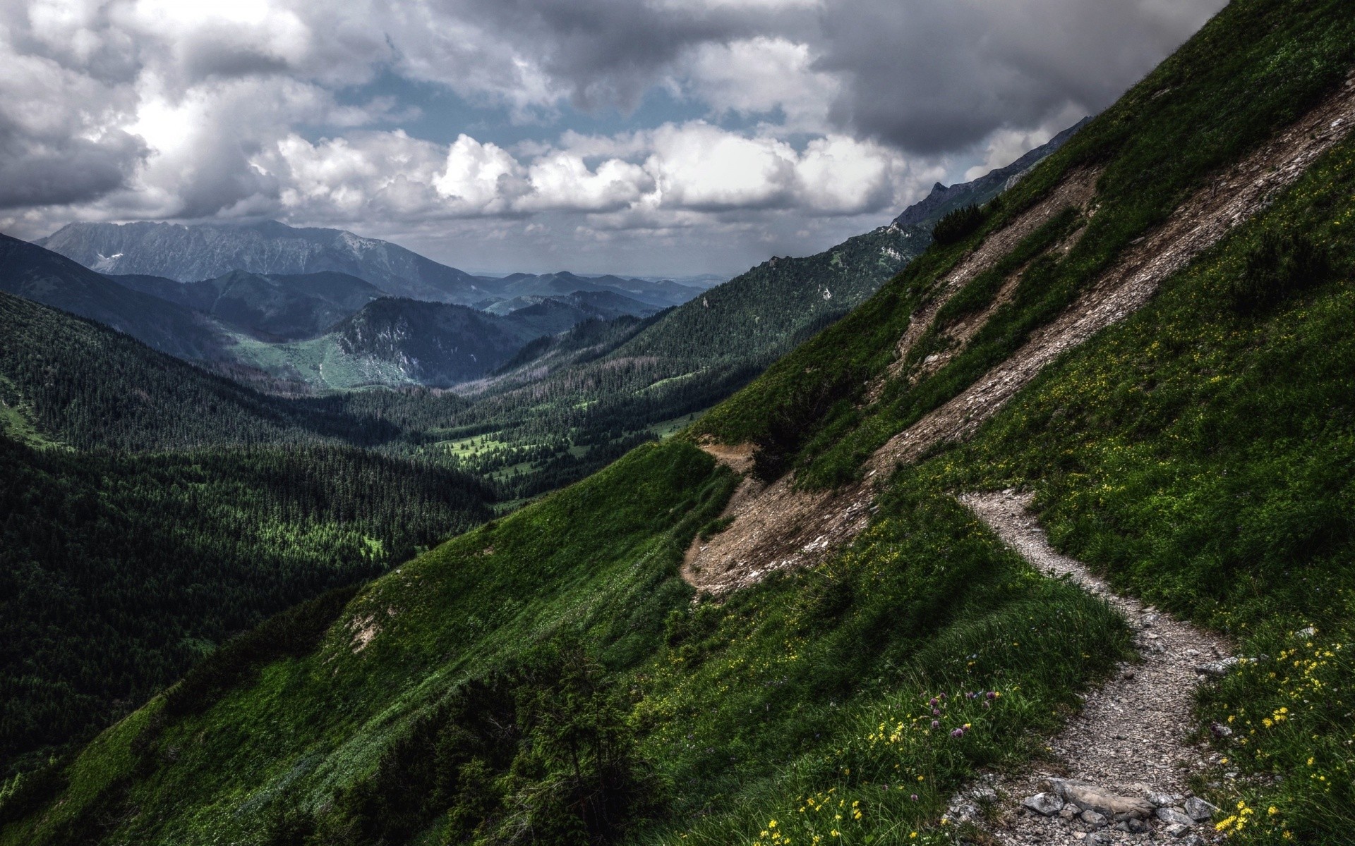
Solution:
M581 648L611 690L602 696L633 711L608 728L631 738L631 757L659 762L654 791L676 814L678 828L661 828L669 837L703 808L724 811L706 837L747 830L748 811L760 816L780 800L766 780L782 762L806 781L852 767L873 784L906 777L908 791L877 786L869 799L873 814L906 824L935 814L974 765L1024 749L1024 731L1051 726L1072 688L1123 648L1103 606L1034 577L943 495L908 486L882 505L890 521L855 558L729 605L692 606L676 575L680 551L732 486L691 447L641 448L374 583L316 652L252 670L191 707L173 693L156 700L70 765L73 801L5 837L390 842L458 826L497 839L523 819L557 824L568 797L561 811L556 792L572 788L518 744L535 728L520 721L523 696L550 675L534 643L562 644L547 655ZM1064 661L1069 650L1084 658ZM882 747L866 736L877 719L911 719L925 696L962 688L1001 696L946 705L947 730L977 727L959 742L919 731ZM467 698L477 704L469 716ZM484 720L496 709L507 715L492 730ZM489 782L495 774L504 778ZM457 811L467 792L482 795L480 816ZM42 801L41 792L19 797ZM161 811L129 816L133 807Z

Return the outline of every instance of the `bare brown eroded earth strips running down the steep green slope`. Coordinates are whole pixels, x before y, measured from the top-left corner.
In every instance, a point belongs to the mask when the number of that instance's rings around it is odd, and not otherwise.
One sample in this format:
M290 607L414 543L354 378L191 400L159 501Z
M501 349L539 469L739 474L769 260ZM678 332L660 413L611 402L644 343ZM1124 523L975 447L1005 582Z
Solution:
M936 444L973 435L1047 364L1142 307L1165 279L1264 210L1322 153L1346 138L1352 126L1355 77L1245 160L1215 175L1164 225L1125 250L1072 307L1033 333L1009 359L890 439L867 463L863 482L835 491L806 491L797 490L787 475L756 495L730 504L726 517L733 517L732 525L705 544L699 540L694 544L683 567L684 578L698 590L724 593L755 583L775 570L824 560L869 524L873 476L883 478ZM1073 171L1050 192L1049 200L1033 206L985 245L1016 244L1022 237L1018 233L1033 231L1058 208L1091 203L1088 179L1087 172ZM935 309L1007 252L985 245L947 277L935 298L938 302L915 317L900 340L900 359L921 336Z

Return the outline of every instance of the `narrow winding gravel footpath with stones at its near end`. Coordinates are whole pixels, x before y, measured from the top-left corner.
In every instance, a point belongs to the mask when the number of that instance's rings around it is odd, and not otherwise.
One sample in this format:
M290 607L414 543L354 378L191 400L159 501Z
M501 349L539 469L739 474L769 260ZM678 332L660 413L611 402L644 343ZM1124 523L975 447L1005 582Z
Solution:
M1066 575L1125 615L1135 629L1134 643L1142 656L1141 665L1122 666L1115 678L1091 692L1081 712L1050 740L1061 772L1037 770L989 785L997 789L1001 803L999 822L991 826L993 837L1022 846L1144 842L1148 831L1207 838L1213 834L1207 822L1210 809L1199 800L1190 800L1186 781L1206 765L1209 751L1192 746L1187 735L1194 728L1195 686L1228 666L1229 643L1114 593L1084 564L1057 552L1027 510L1028 495L965 494L959 501L1033 567L1056 578ZM1088 789L1089 785L1095 789ZM1123 819L1106 814L1115 805L1095 808L1092 796L1098 791L1125 800L1118 812ZM1041 793L1043 800L1026 803ZM1070 808L1064 814L1068 801L1081 803L1076 815ZM1135 812L1134 803L1141 812ZM953 814L970 815L973 808L966 804L965 796L957 797ZM1104 819L1092 816L1088 822L1081 816L1087 808ZM1046 815L1046 809L1053 812ZM1165 832L1173 823L1186 828Z

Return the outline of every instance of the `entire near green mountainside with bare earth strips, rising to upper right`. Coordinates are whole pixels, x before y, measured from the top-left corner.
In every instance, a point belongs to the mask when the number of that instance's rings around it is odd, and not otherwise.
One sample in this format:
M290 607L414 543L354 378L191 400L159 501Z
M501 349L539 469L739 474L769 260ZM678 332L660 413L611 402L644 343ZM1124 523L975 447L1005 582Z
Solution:
M0 843L939 846L1065 773L1211 803L1088 841L1348 842L1352 66L1348 3L1224 5L690 430L228 643Z

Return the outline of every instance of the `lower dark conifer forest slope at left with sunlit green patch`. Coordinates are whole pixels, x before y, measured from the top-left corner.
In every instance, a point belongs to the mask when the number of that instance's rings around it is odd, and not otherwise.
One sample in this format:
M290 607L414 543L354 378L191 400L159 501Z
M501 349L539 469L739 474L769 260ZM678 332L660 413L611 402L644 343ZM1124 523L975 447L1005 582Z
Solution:
M476 479L335 447L119 458L0 436L0 773L489 516Z

